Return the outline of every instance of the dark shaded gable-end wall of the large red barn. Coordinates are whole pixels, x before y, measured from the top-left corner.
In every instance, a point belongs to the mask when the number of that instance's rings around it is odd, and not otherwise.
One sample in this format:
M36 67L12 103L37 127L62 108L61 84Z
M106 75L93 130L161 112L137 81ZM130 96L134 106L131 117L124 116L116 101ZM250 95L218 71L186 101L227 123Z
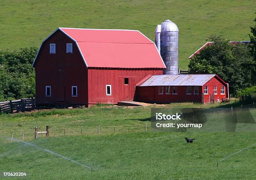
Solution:
M56 44L56 54L49 53L49 44ZM66 53L66 44L73 43L73 53ZM35 62L36 101L38 104L87 104L87 67L75 42L60 30L47 39ZM51 97L45 96L45 86L51 86ZM78 96L72 97L72 86Z

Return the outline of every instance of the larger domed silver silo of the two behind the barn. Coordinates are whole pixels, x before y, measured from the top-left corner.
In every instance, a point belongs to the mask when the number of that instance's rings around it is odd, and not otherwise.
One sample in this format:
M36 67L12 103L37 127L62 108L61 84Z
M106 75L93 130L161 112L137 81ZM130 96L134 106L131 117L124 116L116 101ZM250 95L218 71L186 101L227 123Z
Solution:
M160 53L164 60L166 69L164 74L177 75L179 74L179 29L175 23L170 20L165 20L161 23L161 47Z

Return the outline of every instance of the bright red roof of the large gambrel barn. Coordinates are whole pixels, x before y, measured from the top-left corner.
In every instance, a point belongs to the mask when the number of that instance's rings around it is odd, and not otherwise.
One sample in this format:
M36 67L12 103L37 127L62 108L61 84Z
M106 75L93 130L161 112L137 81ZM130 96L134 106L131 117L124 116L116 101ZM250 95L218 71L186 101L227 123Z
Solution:
M59 29L76 42L87 67L166 68L154 42L137 30Z

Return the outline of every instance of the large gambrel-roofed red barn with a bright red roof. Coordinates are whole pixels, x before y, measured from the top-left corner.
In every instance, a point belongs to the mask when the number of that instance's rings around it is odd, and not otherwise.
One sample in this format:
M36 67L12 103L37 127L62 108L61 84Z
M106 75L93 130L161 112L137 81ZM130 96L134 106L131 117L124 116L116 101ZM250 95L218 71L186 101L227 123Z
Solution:
M136 83L162 75L154 42L137 30L58 28L32 65L38 105L86 105L135 99Z

